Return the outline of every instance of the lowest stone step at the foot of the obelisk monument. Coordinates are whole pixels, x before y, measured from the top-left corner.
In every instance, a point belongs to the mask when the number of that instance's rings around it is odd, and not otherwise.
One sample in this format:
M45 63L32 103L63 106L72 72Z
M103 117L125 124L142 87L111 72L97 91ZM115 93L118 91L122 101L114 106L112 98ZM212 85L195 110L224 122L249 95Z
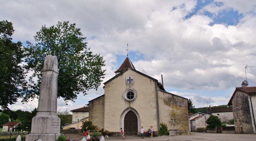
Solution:
M34 141L36 139L41 139L42 141L55 141L59 138L61 134L27 134L26 141Z

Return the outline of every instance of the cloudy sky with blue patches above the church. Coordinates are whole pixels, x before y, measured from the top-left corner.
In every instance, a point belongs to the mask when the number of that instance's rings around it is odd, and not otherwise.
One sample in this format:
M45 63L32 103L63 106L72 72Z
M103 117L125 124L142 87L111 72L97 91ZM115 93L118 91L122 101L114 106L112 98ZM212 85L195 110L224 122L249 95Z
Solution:
M256 66L255 0L0 0L0 20L13 23L15 42L35 43L42 25L76 23L88 47L101 54L112 78L127 54L137 71L161 82L173 94L190 98L196 107L227 104L245 80L245 65ZM256 86L256 67L247 81ZM98 91L79 95L58 110L83 107ZM38 100L9 106L32 111ZM209 104L208 104L209 105Z

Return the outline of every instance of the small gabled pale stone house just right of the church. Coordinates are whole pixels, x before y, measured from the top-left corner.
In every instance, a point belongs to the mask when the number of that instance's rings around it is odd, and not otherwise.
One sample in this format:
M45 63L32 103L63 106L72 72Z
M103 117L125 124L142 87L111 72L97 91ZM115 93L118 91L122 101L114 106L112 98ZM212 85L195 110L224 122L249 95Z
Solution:
M196 113L196 115L197 117L189 120L190 132L196 132L197 128L206 128L206 120L210 117L209 114Z

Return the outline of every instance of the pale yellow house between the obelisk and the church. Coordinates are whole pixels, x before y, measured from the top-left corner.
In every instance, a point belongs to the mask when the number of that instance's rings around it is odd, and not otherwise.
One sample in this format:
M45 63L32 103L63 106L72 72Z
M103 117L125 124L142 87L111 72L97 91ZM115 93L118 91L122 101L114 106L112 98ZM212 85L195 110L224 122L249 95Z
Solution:
M72 112L72 123L75 123L83 118L89 117L89 107L88 106L83 106L78 109L71 110Z

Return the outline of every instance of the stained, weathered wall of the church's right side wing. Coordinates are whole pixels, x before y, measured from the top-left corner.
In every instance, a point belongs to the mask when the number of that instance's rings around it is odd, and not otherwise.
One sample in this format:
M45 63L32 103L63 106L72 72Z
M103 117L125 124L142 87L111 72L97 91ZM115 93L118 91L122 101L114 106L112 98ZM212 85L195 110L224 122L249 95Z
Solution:
M171 125L179 130L180 134L189 134L188 99L159 90L159 115L160 123L165 123L168 130Z

